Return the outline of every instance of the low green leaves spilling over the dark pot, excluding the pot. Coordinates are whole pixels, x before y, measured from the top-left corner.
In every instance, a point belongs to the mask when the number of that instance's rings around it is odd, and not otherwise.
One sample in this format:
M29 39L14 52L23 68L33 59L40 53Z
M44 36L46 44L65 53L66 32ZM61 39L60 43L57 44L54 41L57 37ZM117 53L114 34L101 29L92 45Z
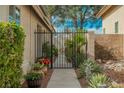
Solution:
M37 72L30 72L25 76L26 80L38 80L41 79L43 77L43 75L41 73L37 73Z

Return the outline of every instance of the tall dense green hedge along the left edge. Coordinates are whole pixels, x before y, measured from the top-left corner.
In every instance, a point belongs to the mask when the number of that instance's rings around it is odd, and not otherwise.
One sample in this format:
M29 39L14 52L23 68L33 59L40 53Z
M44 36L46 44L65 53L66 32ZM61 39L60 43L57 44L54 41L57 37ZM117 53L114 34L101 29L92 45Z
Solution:
M25 34L15 23L0 23L0 87L21 87Z

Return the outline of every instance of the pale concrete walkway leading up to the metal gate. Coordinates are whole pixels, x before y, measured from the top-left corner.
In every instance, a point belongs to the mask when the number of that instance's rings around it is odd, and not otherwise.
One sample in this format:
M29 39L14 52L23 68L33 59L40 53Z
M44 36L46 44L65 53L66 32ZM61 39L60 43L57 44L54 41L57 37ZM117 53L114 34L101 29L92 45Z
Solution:
M55 69L48 88L81 88L74 69Z

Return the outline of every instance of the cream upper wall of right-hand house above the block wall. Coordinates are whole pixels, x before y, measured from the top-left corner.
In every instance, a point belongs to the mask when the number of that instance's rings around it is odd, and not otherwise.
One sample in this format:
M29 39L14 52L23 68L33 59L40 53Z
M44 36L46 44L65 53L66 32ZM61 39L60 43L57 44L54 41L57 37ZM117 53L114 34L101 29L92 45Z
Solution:
M105 28L105 34L115 34L115 22L119 24L119 34L124 34L124 6L118 6L110 9L103 16L103 29Z

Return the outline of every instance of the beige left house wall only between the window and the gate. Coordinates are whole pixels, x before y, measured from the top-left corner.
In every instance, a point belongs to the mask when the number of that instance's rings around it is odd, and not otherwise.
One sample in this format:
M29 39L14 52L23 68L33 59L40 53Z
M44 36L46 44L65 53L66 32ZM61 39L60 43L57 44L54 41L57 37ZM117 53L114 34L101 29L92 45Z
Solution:
M31 6L19 6L21 9L21 25L23 26L26 32L25 39L25 51L24 51L24 63L23 63L23 72L26 74L30 71L31 64L35 61L35 34L37 31L37 25L41 26L40 31L48 29L44 26L40 18L33 11ZM42 39L43 37L41 37Z

